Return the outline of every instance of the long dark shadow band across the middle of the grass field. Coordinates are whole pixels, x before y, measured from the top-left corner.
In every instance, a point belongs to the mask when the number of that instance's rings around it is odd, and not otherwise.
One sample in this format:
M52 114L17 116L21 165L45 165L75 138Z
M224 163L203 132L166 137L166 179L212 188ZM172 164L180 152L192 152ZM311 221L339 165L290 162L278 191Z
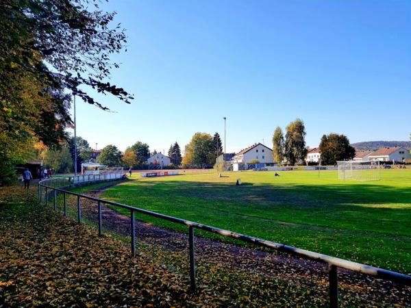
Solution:
M197 196L210 200L247 201L247 196L259 196L260 201L277 203L286 198L299 206L315 203L327 205L411 203L410 188L366 183L341 183L333 185L279 184L264 185L242 182L233 183L193 181L140 181L138 185L149 187L149 191L173 192L179 196ZM396 208L398 209L398 208Z

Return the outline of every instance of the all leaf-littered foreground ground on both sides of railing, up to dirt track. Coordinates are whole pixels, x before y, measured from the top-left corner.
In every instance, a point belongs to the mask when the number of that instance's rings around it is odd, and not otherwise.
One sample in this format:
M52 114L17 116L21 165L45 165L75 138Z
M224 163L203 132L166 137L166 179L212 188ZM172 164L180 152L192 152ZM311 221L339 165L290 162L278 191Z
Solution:
M158 239L140 244L138 255L132 258L124 238L108 233L99 238L94 228L38 205L35 194L0 188L0 307L327 306L325 272L317 276L321 270L304 274L292 264L277 266L277 270L267 264L247 270L249 255L240 255L235 266L221 246L204 251L201 244L199 292L191 294L184 249L172 251ZM92 207L84 203L85 214ZM177 242L184 248L186 240L177 237ZM210 261L208 253L221 258ZM341 306L411 303L409 288L381 286L373 290L378 284L359 287L343 279Z

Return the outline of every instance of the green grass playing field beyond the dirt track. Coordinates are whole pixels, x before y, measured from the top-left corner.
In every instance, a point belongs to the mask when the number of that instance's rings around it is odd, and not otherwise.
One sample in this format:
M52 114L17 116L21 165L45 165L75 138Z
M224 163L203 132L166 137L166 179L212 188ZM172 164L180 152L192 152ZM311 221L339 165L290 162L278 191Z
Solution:
M382 181L336 171L227 172L133 179L103 198L399 272L411 272L411 170ZM240 177L242 185L236 186ZM128 212L127 212L128 215ZM138 219L185 230L149 216ZM212 235L215 236L215 235Z

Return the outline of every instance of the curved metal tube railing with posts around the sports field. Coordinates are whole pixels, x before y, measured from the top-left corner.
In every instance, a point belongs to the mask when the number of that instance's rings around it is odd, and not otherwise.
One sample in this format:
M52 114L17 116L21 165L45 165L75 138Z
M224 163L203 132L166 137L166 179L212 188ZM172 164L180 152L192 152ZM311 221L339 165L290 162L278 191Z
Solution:
M82 198L88 199L90 201L97 202L98 207L98 229L99 235L102 235L102 216L101 216L101 205L114 205L116 207L121 207L123 209L128 209L130 211L130 220L131 220L131 251L132 256L136 255L136 221L135 213L145 214L148 216L153 216L155 218L160 218L163 220L168 220L175 222L177 224L185 224L188 226L188 247L190 255L190 289L192 292L196 290L196 266L195 266L195 244L194 244L194 230L200 229L203 231L216 233L223 235L227 238L234 238L242 242L247 242L251 244L256 244L257 246L272 248L276 251L282 251L283 253L288 253L290 255L295 255L297 257L302 257L303 259L310 259L313 261L318 261L323 264L328 264L328 280L329 280L329 307L338 307L338 268L343 268L345 270L350 270L352 272L358 272L362 274L367 274L370 276L377 277L379 279L385 279L388 281L393 281L395 283L401 283L403 285L411 285L411 276L407 274L401 274L399 272L393 272L390 270L384 270L382 268L376 268L374 266L367 266L365 264L360 264L345 259L340 259L337 257L330 257L329 255L323 255L321 253L314 253L312 251L307 251L305 249L300 249L284 244L279 244L276 242L271 242L268 240L263 240L260 238L255 238L253 236L236 233L224 229L219 229L216 227L208 226L206 224L200 224L198 222L192 222L190 220L184 220L181 218L176 218L173 216L168 216L164 214L155 213L153 211L147 211L146 209L139 209L138 207L132 207L122 203L116 203L113 201L103 200L101 198L95 198L92 196L86 196L84 194L78 194L76 192L70 192L64 190L64 188L72 187L76 184L82 183L93 183L96 181L107 181L113 179L121 179L123 175L119 176L107 176L103 177L102 175L90 175L90 176L77 176L75 177L65 177L65 178L56 178L56 179L47 179L40 181L38 183L38 194L40 198L40 203L42 202L42 192L45 190L45 203L49 204L49 194L53 192L53 206L55 211L57 211L57 192L63 194L63 214L67 215L66 207L66 194L77 196L77 220L79 223L82 222Z

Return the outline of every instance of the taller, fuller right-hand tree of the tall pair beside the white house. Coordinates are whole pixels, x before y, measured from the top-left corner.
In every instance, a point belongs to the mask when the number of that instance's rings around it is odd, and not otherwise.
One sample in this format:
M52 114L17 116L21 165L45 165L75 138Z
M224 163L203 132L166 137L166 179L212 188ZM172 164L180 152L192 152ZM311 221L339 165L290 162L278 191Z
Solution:
M284 144L284 156L288 164L302 164L306 159L306 127L301 119L297 118L286 127L286 141Z

